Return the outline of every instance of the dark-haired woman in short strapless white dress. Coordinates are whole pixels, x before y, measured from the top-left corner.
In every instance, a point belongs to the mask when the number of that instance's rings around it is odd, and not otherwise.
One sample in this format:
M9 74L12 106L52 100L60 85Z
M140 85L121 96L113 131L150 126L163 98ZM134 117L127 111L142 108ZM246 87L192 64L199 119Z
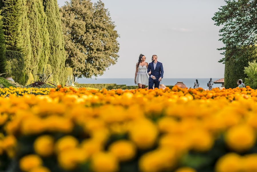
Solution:
M140 54L138 63L136 64L136 74L135 74L135 84L138 84L138 88L145 88L149 83L149 77L146 73L148 68L148 63L146 61L146 56ZM151 74L151 71L148 73Z

